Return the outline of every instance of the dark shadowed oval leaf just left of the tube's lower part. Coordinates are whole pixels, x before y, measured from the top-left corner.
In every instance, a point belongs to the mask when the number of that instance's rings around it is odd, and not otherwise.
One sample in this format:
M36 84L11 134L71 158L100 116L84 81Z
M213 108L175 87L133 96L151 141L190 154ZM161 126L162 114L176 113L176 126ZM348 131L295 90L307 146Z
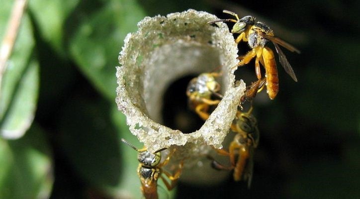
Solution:
M103 100L70 99L60 113L55 138L79 176L100 190L116 187L121 178L119 138L108 109Z

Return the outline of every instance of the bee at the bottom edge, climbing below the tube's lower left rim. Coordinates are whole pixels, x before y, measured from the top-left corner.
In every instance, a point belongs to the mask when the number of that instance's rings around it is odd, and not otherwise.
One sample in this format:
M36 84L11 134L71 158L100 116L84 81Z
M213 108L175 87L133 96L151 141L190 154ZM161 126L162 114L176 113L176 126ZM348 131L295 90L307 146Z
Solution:
M138 161L140 162L137 173L141 182L141 191L145 197L145 199L158 199L158 179L159 177L163 179L164 184L168 188L168 190L172 190L180 177L183 163L180 162L178 170L174 175L171 175L169 172L162 169L162 167L166 166L169 161L171 155L175 152L172 151L168 155L168 157L162 162L161 161L161 151L166 150L167 148L162 148L154 153L147 151L146 148L137 149L132 144L128 143L125 139L121 139L122 142L129 145L131 148L135 149L139 152ZM164 178L162 174L165 174L170 183Z

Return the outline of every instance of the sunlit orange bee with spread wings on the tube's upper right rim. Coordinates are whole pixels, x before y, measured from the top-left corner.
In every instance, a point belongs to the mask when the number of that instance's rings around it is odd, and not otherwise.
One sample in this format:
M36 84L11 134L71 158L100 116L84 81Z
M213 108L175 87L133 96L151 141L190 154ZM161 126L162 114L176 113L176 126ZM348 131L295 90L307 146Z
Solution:
M274 99L278 92L278 77L277 77L276 62L272 50L269 47L265 46L269 41L271 41L274 44L275 50L279 56L280 64L284 67L286 73L290 75L290 77L295 82L297 82L295 73L291 68L290 63L287 61L284 53L281 51L280 47L278 46L278 44L288 49L291 52L300 53L298 49L296 49L291 44L283 41L282 39L275 37L273 31L270 29L269 26L267 26L261 21L257 21L256 18L253 16L245 16L239 19L239 16L232 11L223 10L223 12L235 16L236 20L220 19L220 20L210 21L208 23L211 24L220 21L235 22L233 28L231 29L231 32L240 34L235 39L235 42L236 43L239 43L241 41L248 42L248 45L251 48L251 50L246 55L239 57L240 62L236 66L234 66L234 68L248 64L253 58L256 57L255 73L258 79L260 80L261 79L260 63L261 63L265 68L267 93L271 100Z

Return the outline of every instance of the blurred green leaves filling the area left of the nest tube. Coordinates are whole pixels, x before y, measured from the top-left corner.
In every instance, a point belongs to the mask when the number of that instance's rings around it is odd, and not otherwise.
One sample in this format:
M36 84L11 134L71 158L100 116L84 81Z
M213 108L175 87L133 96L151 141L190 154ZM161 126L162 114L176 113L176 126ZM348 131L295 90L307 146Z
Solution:
M12 4L13 1L10 0L2 3L1 27L6 27ZM45 59L41 57L41 63L45 64L41 67L47 67L44 71L53 73L56 71L52 68L53 66L59 67L59 62L69 65L71 59L74 58L74 61L78 63L76 66L84 72L104 98L114 105L117 55L126 34L135 31L137 22L145 15L141 7L133 0L83 1L81 3L74 0L31 0L28 4L28 13L31 16L31 22L25 12L14 50L3 76L0 100L1 134L16 132L17 137L21 137L34 118L39 91L39 64L34 55L36 53L40 53L39 56L45 55L41 48L50 48L57 54L47 54L46 56L50 57ZM1 28L1 37L4 31L5 28ZM39 43L35 44L35 42ZM35 45L40 49L34 51ZM53 59L58 60L58 63L47 64ZM69 73L65 74L73 76ZM53 88L62 87L46 85L44 88L49 90L49 93L53 93ZM49 98L47 95L43 96ZM127 138L130 135L124 123L124 116L118 118L121 114L117 111L111 117L118 119L111 119L110 111L103 111L109 106L108 102L103 100L102 102L101 100L73 100L78 102L75 107L69 104L60 113L60 121L57 122L58 131L64 133L60 133L55 138L58 140L56 143L62 146L61 150L64 151L71 166L79 172L81 178L100 192L108 192L107 195L120 197L123 196L121 193L128 193L128 196L133 195L139 198L141 193L136 175L138 165L134 158L136 153L134 154L134 151L127 149L126 146L119 146L120 137ZM40 104L40 108L42 106L51 107L48 104ZM69 115L72 116L69 117ZM113 123L109 122L111 120ZM118 128L116 129L115 126ZM44 135L36 134L34 137L33 134L28 132L24 138L16 141L0 140L0 198L38 198L50 193L52 180L49 180L49 175L51 173L45 170L37 171L45 167L45 163L48 169L51 169L50 162L46 162L46 159L42 160L41 156L31 152L31 143L28 143L30 142L28 139L36 139L36 136L43 141L46 139ZM124 153L126 159L120 160L123 158L120 148L128 151ZM46 155L44 158L49 160L50 154ZM38 161L29 161L29 159ZM19 162L21 164L18 167L13 166ZM122 178L121 174L124 173L122 171L130 173L130 170L135 175ZM129 182L137 186L131 186ZM44 190L44 188L47 189Z

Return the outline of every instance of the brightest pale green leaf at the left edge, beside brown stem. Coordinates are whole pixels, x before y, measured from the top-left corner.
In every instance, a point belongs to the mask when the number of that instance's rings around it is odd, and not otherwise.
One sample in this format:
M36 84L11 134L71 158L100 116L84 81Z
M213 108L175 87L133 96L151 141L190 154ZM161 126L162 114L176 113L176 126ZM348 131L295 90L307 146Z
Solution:
M12 2L12 1L11 1ZM1 8L0 27L6 27L12 3L5 1ZM1 30L3 37L5 28ZM13 52L7 61L0 91L0 135L19 138L33 121L39 87L39 66L32 58L34 39L27 15L19 27Z

